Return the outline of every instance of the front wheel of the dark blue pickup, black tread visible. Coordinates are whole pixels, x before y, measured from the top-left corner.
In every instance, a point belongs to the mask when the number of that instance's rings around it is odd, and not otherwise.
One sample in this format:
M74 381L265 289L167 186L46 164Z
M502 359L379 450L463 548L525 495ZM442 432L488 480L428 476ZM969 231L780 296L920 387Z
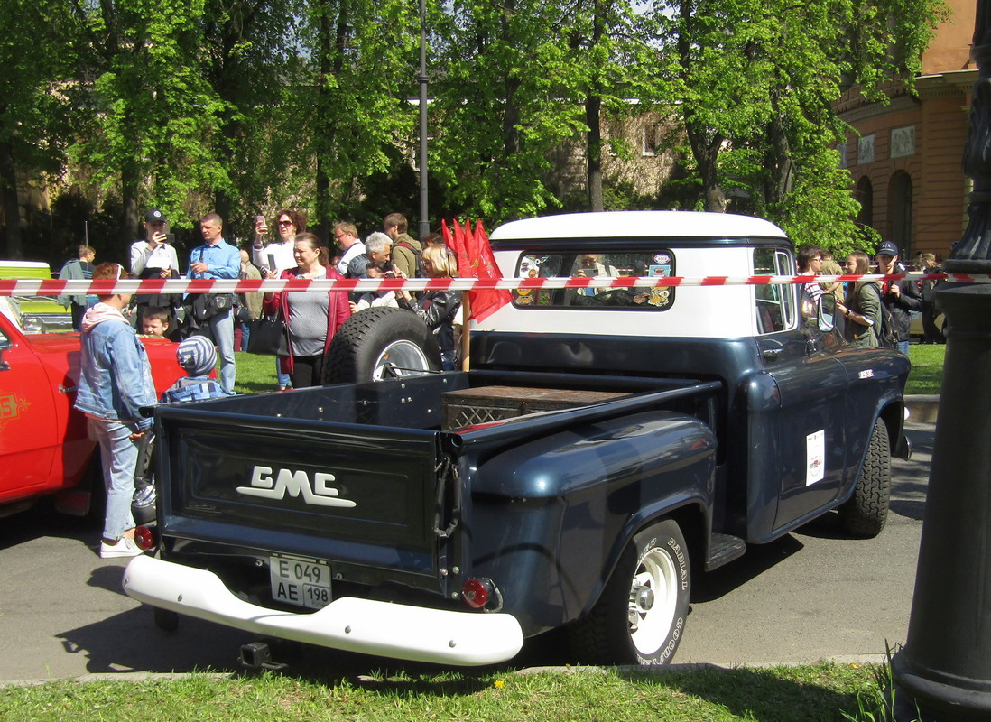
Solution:
M876 537L888 521L891 503L891 444L883 419L874 422L867 457L860 469L853 496L839 507L839 518L847 534Z

